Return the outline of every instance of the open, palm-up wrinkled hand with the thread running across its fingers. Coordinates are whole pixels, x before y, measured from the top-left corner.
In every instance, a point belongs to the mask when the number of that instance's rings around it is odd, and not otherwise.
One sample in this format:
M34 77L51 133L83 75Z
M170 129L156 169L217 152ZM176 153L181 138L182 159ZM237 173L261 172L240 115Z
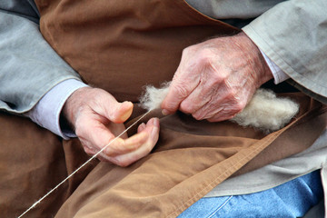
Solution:
M65 118L74 126L75 134L89 155L99 152L125 130L123 123L132 111L132 103L118 103L111 94L91 87L75 91L63 108ZM97 158L127 166L149 154L159 137L159 120L152 118L147 124L140 124L137 132L130 138L124 134Z

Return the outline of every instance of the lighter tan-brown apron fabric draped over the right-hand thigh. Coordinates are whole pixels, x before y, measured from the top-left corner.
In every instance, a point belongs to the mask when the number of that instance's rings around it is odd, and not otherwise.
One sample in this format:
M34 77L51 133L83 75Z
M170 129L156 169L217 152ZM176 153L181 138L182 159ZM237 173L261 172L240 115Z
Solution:
M183 114L163 117L160 141L153 154L126 169L99 163L58 217L175 217L268 145L259 154L259 162L254 159L243 171L312 144L321 132L311 133L311 139L295 139L292 134L312 129L312 124L304 121L310 116L305 115L303 123L299 121L302 124L289 126L290 131L284 129L267 136L227 122L195 122ZM325 126L321 118L315 122L318 129ZM198 131L197 126L202 130ZM282 138L285 141L278 143Z

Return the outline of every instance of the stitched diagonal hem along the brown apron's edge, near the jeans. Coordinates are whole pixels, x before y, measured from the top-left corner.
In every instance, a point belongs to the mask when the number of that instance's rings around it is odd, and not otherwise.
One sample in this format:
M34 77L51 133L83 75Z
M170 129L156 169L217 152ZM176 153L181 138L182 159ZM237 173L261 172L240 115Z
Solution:
M203 187L202 190L200 190L199 192L195 193L193 196L197 196L197 195L199 195L200 193L202 193L203 190L207 189L207 188L210 187L210 186L213 186L212 184L213 184L213 183L216 183L216 181L219 180L219 179L220 179L224 174L226 174L228 171L230 171L231 168L234 168L235 165L237 165L238 163L242 163L244 159L246 159L247 157L249 157L249 156L251 156L252 154L256 153L256 152L257 152L259 149L261 149L263 146L265 146L265 145L267 145L267 144L271 144L272 141L273 141L274 139L276 139L277 136L279 136L279 135L282 134L282 133L283 133L283 132L278 133L278 134L273 134L273 135L271 135L271 136L268 136L267 142L263 143L261 146L258 146L258 147L257 147L257 148L252 152L252 153L250 153L250 154L244 156L244 157L243 157L241 160L239 160L237 163L234 163L234 164L233 164L229 169L225 170L221 175L219 175L215 180L213 180L212 183L209 183L208 185L205 185L205 186ZM185 205L185 204L187 204L187 203L189 203L189 202L191 202L191 201L193 201L193 197L190 198L186 203L183 203L183 205ZM177 211L178 211L178 210L179 210L183 205L179 206L176 210L173 211L173 213L176 213L176 212L177 212ZM168 217L171 217L171 216L173 215L173 213L170 213L170 214L168 215Z

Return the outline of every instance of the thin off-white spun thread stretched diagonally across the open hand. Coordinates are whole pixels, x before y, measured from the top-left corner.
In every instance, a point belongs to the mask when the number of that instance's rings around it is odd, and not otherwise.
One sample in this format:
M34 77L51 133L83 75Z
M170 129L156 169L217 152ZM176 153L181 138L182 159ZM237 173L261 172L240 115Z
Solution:
M143 114L139 119L137 119L137 121L134 122L134 124L137 124L141 119L144 118L145 115L149 114L150 111L146 112L145 114ZM90 163L98 154L102 153L104 151L104 149L106 147L108 147L110 144L114 143L114 141L119 138L120 136L122 136L124 133L126 133L132 126L134 126L134 124L131 124L128 128L126 128L123 133L119 134L117 137L115 137L109 144L106 144L98 153L94 154L90 159L88 159L85 163L83 163L80 167L78 167L73 173L71 173L70 175L68 175L61 183L58 183L52 190L50 190L50 192L45 193L45 195L40 198L37 202L33 203L32 206L30 206L24 213L22 213L20 216L18 216L17 218L21 218L23 217L26 213L28 213L30 210L32 210L33 208L35 208L35 206L38 203L41 203L45 197L47 197L50 193L53 193L54 190L56 190L60 185L62 185L64 182L66 182L70 177L72 177L74 175L74 173L77 173L80 169L82 169L84 167L84 165L86 165L87 163Z

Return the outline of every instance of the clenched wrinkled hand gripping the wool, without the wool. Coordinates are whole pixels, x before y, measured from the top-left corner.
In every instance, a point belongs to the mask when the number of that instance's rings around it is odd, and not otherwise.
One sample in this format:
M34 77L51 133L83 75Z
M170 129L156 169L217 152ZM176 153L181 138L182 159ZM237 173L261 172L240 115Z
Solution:
M180 110L197 120L231 119L271 78L260 50L243 33L192 45L183 50L163 114Z

